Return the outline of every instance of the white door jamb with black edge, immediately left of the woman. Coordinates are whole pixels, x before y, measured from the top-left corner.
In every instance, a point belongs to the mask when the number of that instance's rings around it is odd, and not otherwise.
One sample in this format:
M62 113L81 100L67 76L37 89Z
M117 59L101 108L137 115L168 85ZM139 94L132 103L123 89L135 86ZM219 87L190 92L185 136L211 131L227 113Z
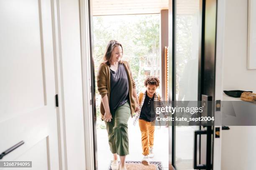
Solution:
M79 0L79 2L86 170L97 170L95 75L92 58L92 14L90 10L90 0Z

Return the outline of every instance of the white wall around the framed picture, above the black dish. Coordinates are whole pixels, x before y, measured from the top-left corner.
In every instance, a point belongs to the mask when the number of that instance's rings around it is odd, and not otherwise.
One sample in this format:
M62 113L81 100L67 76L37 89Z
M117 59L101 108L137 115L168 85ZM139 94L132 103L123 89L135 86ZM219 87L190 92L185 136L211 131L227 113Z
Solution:
M247 70L247 0L225 0L224 90L256 92L256 70Z

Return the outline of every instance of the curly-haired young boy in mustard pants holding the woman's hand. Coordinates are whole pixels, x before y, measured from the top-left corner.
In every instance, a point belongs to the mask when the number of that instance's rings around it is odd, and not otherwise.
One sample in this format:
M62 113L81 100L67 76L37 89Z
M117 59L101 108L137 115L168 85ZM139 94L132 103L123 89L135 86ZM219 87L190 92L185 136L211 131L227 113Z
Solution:
M155 110L153 115L151 113L151 102L159 101L156 102L158 105L157 107L163 107L163 103L160 102L162 101L162 98L156 93L159 83L159 79L155 76L146 77L146 80L144 81L146 91L140 92L138 96L140 109L135 115L133 124L135 125L138 120L141 129L141 144L143 150L143 159L141 163L143 165L148 165L148 158L154 157L153 145L156 114ZM164 113L164 116L167 117L168 114L166 115L166 113Z

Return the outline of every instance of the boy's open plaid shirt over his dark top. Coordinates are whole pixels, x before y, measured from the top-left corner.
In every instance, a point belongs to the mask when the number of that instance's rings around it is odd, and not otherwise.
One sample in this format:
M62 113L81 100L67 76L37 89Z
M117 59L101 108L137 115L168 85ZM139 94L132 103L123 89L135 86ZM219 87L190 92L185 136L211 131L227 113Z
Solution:
M140 118L140 115L141 115L141 108L144 104L144 100L146 98L146 92L145 91L143 94L143 97L142 97L142 100L141 100L141 105L140 105L140 109L138 112L136 112L136 115L133 117L133 125L135 126L136 123L138 122L139 118ZM154 111L156 112L156 107L164 107L164 104L162 102L162 97L159 95L159 93L155 92L154 94ZM163 113L164 116L168 116L168 113L164 112Z

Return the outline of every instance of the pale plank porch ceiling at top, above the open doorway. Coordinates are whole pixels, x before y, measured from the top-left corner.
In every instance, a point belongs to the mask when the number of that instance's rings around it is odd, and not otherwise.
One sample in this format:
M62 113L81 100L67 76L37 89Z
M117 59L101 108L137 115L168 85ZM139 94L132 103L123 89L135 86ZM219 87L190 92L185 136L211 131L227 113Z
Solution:
M169 0L91 0L92 14L97 15L128 15L155 14L168 10ZM200 0L178 0L177 15L198 13Z

